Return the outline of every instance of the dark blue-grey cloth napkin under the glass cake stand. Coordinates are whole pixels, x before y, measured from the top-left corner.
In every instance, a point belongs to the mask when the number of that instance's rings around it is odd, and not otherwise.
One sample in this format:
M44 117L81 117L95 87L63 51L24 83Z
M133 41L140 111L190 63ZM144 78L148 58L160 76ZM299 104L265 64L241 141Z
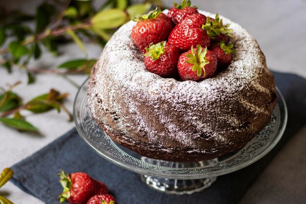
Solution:
M119 204L236 204L248 187L277 154L284 143L306 122L306 80L293 74L274 72L276 84L288 108L288 123L278 145L254 164L219 176L211 187L193 195L168 195L146 186L140 177L94 153L76 129L50 143L12 167L13 183L47 204L58 204L62 191L57 173L86 172L109 187Z

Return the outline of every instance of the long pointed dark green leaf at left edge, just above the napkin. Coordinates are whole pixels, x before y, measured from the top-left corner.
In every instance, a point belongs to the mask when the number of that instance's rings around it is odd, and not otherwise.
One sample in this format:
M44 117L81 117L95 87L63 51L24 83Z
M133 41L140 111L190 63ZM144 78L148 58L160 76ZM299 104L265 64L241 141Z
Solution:
M23 119L0 117L0 122L2 122L4 125L7 125L11 128L21 130L21 131L31 131L31 132L38 131L36 127L34 127L31 123Z

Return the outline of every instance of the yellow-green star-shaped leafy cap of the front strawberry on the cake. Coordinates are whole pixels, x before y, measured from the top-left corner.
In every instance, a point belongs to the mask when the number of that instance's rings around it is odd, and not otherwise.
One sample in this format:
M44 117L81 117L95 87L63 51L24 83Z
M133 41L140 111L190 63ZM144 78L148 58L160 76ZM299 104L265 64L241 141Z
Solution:
M195 52L194 47L191 47L191 53L187 53L186 57L190 60L186 61L190 64L193 64L193 71L197 72L197 76L202 75L202 70L204 71L204 76L206 75L206 71L204 66L209 64L209 61L206 59L207 47L202 48L201 45L197 45L197 50Z

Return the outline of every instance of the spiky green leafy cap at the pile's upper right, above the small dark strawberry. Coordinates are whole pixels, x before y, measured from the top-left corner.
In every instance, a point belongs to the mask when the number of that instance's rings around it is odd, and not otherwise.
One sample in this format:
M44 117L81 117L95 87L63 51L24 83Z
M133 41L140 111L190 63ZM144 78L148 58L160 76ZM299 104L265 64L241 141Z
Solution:
M233 29L229 29L229 23L223 25L222 19L219 18L219 14L216 14L215 21L212 21L209 17L206 18L206 23L202 25L202 29L206 30L208 36L212 39L216 39L220 34L225 34L232 38L231 32Z

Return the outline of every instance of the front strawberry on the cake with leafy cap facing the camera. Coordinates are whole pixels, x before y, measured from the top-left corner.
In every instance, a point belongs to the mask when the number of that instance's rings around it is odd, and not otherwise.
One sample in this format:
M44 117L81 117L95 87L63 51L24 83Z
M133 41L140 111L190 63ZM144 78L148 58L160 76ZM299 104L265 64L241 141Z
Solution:
M177 64L178 73L183 81L201 81L214 75L217 69L217 57L207 48L197 45L197 49L181 54Z

